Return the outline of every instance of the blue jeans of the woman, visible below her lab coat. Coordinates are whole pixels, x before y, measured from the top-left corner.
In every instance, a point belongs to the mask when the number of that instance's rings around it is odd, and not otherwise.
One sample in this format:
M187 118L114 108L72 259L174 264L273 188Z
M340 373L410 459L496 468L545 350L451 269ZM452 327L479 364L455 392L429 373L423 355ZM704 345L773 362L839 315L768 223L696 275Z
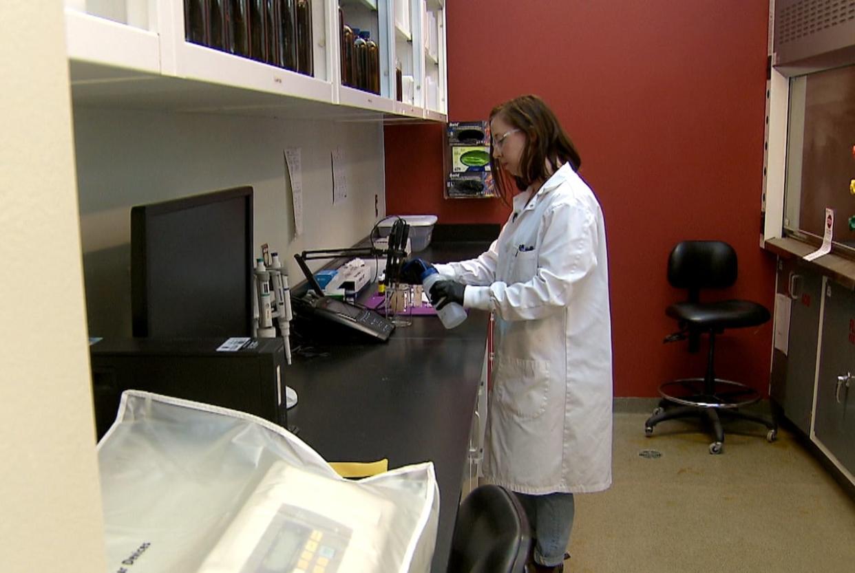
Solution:
M534 561L541 565L562 563L573 529L573 494L516 494L516 497L526 510L532 537L537 540Z

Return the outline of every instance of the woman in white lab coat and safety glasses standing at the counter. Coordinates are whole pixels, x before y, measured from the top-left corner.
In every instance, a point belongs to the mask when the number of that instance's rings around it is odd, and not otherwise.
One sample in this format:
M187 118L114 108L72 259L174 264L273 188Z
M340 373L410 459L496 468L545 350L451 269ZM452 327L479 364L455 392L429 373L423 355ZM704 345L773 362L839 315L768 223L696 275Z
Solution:
M490 129L493 178L503 195L516 192L513 213L486 253L435 265L450 280L434 284L431 298L496 317L484 475L526 508L536 538L529 570L562 571L573 494L611 484L603 213L539 97L494 108Z

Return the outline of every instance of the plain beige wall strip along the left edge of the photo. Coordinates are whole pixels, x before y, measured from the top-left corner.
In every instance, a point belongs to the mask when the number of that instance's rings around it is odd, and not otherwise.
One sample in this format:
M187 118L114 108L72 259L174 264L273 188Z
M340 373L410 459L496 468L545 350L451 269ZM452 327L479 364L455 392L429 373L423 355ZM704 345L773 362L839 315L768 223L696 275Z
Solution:
M106 567L64 36L60 0L0 3L3 573Z

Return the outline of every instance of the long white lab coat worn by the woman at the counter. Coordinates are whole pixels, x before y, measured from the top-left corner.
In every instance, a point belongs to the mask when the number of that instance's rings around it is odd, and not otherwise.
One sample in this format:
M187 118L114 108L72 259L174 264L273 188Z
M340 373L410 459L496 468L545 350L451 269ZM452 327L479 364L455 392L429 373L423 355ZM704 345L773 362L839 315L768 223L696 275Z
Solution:
M477 259L435 265L496 316L484 476L522 494L611 484L612 378L603 213L563 165Z

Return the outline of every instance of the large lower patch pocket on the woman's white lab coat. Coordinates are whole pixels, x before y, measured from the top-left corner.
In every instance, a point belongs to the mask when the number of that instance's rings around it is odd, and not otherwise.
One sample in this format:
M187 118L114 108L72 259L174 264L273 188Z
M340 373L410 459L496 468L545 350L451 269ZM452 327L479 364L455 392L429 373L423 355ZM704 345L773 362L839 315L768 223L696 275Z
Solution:
M549 362L499 359L495 386L498 406L517 418L537 418L549 400Z

